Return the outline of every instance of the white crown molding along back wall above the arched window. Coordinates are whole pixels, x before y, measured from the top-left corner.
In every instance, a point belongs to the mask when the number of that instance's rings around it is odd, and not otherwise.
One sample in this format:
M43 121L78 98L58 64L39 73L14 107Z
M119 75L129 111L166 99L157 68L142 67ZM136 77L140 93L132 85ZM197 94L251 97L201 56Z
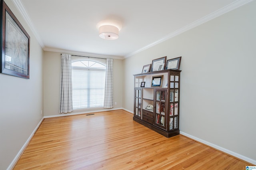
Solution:
M70 50L50 48L50 47L45 47L44 51L52 51L52 52L57 52L57 53L68 53L68 54L72 54L72 55L82 55L82 56L87 56L87 57L124 59L123 56L112 56L112 55L101 55L101 54L94 54L94 53L84 53L84 52L70 51Z

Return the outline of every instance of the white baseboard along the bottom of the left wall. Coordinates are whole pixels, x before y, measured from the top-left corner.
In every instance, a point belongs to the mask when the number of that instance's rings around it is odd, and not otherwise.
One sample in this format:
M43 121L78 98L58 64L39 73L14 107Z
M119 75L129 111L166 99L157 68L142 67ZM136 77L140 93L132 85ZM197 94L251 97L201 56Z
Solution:
M22 148L20 149L20 151L18 152L18 154L15 156L15 158L12 160L12 162L10 163L10 165L8 166L8 168L6 170L12 170L15 166L15 164L18 162L20 156L22 155L22 153L24 152L24 150L26 149L26 147L28 146L30 140L32 139L32 137L34 136L36 130L39 128L39 126L41 125L42 121L44 120L44 117L42 117L41 121L38 123L38 125L36 126L36 128L33 130L32 134L30 134L30 136L28 137L28 140L24 143L24 145L22 146Z

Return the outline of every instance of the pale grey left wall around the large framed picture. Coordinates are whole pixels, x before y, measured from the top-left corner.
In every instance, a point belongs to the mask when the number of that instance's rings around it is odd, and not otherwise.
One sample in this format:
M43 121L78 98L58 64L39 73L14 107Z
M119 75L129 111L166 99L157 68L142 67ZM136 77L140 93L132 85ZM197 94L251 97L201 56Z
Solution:
M8 168L41 121L43 50L11 0L5 0L30 36L30 79L0 73L0 169Z

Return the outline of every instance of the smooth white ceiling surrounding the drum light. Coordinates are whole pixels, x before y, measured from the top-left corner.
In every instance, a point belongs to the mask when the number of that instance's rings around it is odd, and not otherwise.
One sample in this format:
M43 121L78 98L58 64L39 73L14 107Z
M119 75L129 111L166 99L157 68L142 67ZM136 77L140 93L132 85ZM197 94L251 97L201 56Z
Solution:
M12 0L45 51L126 58L250 0ZM117 40L97 24L122 23Z

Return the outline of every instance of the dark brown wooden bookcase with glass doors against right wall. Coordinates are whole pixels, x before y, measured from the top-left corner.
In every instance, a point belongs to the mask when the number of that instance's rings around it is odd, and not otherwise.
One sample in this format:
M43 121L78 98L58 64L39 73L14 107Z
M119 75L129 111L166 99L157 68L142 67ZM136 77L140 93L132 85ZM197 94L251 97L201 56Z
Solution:
M134 75L134 121L168 138L180 134L180 72L168 69Z

